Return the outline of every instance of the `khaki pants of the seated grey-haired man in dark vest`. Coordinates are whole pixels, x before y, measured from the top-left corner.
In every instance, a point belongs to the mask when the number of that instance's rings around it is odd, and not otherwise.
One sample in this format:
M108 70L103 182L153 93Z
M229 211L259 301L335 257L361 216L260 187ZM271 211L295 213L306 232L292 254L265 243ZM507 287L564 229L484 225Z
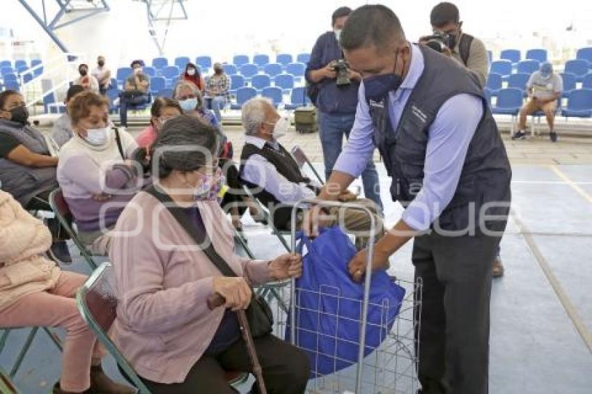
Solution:
M368 198L358 198L352 203L367 207L372 212L375 223L374 241L376 242L384 234L384 224L380 215L377 214L376 204ZM290 227L290 224L288 222L288 227ZM321 225L326 227L341 226L345 233L355 235L357 249L366 246L372 230L371 217L362 210L350 207L330 207L329 215L322 218ZM296 226L297 228L302 227L302 214L298 215Z

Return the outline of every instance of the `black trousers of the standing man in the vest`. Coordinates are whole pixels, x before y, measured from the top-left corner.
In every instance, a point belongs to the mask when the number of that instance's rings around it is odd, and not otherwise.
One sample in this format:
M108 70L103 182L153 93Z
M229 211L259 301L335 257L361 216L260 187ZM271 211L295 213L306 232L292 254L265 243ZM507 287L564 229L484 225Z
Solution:
M433 233L414 240L415 277L423 281L419 336L416 330L423 394L488 393L491 267L500 239Z

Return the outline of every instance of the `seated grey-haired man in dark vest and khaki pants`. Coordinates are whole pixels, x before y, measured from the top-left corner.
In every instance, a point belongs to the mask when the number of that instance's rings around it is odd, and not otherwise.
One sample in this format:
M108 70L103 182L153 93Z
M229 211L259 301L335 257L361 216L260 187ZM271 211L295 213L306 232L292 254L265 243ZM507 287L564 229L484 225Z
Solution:
M315 198L321 186L302 175L290 152L278 142L289 126L288 120L282 118L265 98L253 98L242 106L242 127L246 136L240 155L240 178L255 198L270 210L274 226L279 230L290 229L290 205L299 200ZM355 200L357 204L368 207L375 216L377 236L380 236L382 219L373 201L358 199L350 191L345 191L339 200ZM353 209L340 211L339 208L331 208L326 213L330 217L322 223L323 226L334 226L343 220L346 230L360 233L357 246L364 244L371 229L371 218L366 213ZM298 228L301 223L302 215L299 214L296 223ZM366 233L366 237L362 233Z

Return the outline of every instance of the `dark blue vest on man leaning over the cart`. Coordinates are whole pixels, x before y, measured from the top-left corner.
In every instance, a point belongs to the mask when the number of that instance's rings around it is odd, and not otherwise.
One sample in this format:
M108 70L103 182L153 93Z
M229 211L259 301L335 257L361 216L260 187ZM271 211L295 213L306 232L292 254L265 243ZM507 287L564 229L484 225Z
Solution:
M437 219L444 230L462 230L467 228L471 216L478 220L483 204L509 203L510 162L476 77L446 56L427 47L420 49L423 72L407 100L397 129L393 129L389 119L388 96L380 102L368 102L375 129L374 142L393 180L391 196L405 207L423 187L429 129L442 104L462 93L481 97L483 117L469 144L455 194ZM507 215L508 209L497 207L486 213Z

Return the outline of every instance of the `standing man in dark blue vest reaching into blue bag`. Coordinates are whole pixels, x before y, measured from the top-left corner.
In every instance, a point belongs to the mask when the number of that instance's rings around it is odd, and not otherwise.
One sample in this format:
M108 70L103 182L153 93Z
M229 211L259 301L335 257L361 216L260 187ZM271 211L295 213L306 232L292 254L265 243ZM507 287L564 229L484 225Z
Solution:
M478 79L447 56L407 42L387 7L355 10L341 33L361 74L350 139L318 198L336 200L375 147L405 211L373 246L373 268L414 238L412 262L423 282L422 393L488 392L491 266L508 219L511 168ZM312 235L323 210L306 215ZM349 265L365 274L367 251Z

